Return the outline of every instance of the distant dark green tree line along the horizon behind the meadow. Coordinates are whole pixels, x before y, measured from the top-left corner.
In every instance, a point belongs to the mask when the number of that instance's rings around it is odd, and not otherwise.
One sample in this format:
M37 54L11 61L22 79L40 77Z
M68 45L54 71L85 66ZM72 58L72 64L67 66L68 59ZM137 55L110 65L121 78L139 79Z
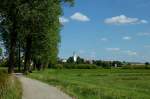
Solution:
M102 68L107 68L110 69L112 67L122 67L124 69L149 69L150 68L150 63L145 62L145 63L140 63L140 62L126 62L126 61L104 61L104 60L86 60L80 56L77 57L76 62L74 61L74 57L71 56L66 61L64 62L62 59L58 59L58 63L64 65L64 67L73 68L75 66L79 66L79 68L84 66L84 68L89 68L89 66L92 68L94 65L97 67L102 67ZM70 67L69 67L69 66ZM57 66L57 68L62 67L60 65Z

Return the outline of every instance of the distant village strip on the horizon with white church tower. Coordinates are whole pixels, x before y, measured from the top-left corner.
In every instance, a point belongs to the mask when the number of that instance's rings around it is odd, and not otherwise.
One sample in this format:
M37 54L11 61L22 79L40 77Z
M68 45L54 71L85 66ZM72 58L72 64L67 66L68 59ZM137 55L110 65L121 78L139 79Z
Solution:
M93 59L85 59L78 56L75 52L68 59L59 59L58 63L76 63L76 64L96 64L102 67L122 67L126 65L130 66L144 66L149 65L149 62L140 63L140 62L125 62L125 61L104 61L104 60L93 60Z

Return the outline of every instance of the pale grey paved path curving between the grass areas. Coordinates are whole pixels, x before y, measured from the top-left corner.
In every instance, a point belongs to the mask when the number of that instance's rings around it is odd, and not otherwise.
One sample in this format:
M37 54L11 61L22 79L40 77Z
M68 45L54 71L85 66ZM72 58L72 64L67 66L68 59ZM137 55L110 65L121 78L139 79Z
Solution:
M53 86L24 76L18 78L23 87L22 99L72 99Z

